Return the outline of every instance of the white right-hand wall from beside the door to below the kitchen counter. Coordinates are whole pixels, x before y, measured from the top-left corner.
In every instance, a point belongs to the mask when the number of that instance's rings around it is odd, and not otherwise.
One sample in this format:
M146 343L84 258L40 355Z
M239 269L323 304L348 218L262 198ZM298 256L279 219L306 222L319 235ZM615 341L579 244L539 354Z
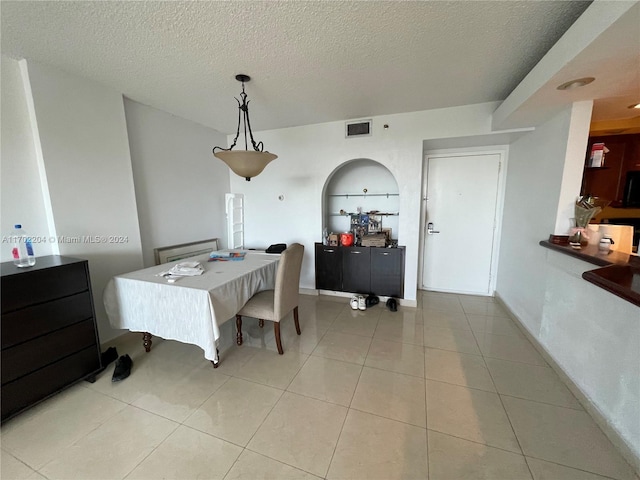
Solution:
M566 203L580 185L569 180L569 195L562 179L583 164L586 140L579 151L572 141L586 110L567 109L510 146L496 293L640 458L639 309L580 277L594 265L538 244L556 220L566 224L556 233L568 231Z

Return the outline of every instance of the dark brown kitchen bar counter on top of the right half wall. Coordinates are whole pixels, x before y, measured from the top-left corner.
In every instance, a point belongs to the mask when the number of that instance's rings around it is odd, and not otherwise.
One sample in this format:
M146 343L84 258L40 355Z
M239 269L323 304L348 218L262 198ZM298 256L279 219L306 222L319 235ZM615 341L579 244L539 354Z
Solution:
M637 255L615 250L601 253L596 245L589 245L580 250L546 240L541 241L540 245L602 267L584 272L582 278L640 306L640 257Z

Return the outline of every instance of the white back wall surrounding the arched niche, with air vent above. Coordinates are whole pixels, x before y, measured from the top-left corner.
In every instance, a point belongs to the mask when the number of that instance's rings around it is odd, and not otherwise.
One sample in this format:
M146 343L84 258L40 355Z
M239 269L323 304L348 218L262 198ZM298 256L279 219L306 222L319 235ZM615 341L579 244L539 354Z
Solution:
M315 289L313 244L322 239L322 189L344 162L368 158L388 168L398 183L397 238L406 246L405 298L415 300L423 140L489 133L496 105L374 117L372 135L361 138L345 138L344 122L257 133L257 139L278 158L250 182L231 175L232 192L245 194L246 245L302 243L306 252L300 284ZM384 129L384 124L389 128ZM284 201L278 200L281 194Z

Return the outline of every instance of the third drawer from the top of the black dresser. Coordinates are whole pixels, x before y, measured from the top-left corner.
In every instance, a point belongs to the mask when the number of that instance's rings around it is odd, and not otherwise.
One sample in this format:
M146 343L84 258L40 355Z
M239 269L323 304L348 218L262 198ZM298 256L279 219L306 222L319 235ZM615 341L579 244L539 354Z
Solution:
M93 347L99 365L96 344L93 318L90 318L27 343L2 350L3 402L6 383L73 355L86 347Z

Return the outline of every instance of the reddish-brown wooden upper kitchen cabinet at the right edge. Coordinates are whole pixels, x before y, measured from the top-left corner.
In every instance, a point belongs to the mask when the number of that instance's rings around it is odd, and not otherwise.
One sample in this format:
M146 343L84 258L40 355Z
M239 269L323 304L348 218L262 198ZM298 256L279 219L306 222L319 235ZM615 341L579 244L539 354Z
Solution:
M605 154L603 167L591 168L591 147L599 142L604 143L609 152ZM621 206L626 174L633 170L640 170L640 134L589 137L581 194L591 194L611 200L612 206Z

